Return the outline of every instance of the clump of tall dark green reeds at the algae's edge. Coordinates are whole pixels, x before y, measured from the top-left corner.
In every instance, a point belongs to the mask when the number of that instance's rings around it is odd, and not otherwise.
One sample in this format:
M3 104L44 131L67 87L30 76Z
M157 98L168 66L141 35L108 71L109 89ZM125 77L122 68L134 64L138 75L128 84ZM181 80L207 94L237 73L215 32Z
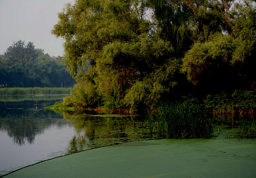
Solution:
M211 138L213 127L203 105L193 100L163 104L148 116L150 135L158 138Z

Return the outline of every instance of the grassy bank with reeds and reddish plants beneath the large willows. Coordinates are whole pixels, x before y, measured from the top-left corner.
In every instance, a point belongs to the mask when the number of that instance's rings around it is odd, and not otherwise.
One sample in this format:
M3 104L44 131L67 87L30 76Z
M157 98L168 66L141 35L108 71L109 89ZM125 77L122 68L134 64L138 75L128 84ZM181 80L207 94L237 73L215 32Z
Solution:
M211 138L214 125L231 125L232 133L227 138L256 138L256 92L235 90L233 93L218 93L204 98L186 96L180 101L162 103L149 109L145 126L153 138ZM58 112L88 109L55 103L48 109ZM131 115L129 108L90 108L97 113ZM146 109L145 109L146 110Z

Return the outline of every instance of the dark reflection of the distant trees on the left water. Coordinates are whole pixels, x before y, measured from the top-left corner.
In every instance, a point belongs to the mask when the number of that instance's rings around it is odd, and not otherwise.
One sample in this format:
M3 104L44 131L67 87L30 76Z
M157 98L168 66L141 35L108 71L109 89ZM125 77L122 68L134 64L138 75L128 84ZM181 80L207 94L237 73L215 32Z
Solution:
M58 123L60 114L53 111L9 109L5 110L0 120L0 129L13 138L14 144L24 145L26 141L33 144L36 135L43 134L52 123Z

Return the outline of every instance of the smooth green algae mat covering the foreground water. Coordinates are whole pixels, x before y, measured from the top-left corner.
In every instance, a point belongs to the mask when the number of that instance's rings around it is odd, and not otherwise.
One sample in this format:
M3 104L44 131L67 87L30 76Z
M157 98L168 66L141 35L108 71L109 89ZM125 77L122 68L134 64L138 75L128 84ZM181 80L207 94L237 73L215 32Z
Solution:
M256 140L151 140L40 162L4 178L256 177Z

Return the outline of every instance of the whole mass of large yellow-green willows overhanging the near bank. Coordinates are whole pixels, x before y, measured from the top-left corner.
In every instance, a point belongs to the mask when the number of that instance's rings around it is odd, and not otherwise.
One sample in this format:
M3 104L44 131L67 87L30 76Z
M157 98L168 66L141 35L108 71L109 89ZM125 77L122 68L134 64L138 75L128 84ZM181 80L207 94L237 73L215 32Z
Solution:
M255 89L255 7L250 0L66 4L52 30L65 40L64 62L77 82L65 104L142 108L193 90Z

